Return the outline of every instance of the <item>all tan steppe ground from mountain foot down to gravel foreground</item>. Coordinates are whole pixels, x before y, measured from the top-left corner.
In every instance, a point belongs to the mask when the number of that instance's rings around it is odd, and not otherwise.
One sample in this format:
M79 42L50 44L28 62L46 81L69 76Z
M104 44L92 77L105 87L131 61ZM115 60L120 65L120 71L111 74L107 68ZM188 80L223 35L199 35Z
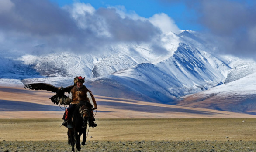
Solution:
M1 108L1 101L53 105L48 99L52 95L0 87L0 152L71 151L67 129L60 127L64 111ZM256 152L256 115L101 96L96 99L98 126L89 129L82 152ZM131 108L134 106L141 110Z

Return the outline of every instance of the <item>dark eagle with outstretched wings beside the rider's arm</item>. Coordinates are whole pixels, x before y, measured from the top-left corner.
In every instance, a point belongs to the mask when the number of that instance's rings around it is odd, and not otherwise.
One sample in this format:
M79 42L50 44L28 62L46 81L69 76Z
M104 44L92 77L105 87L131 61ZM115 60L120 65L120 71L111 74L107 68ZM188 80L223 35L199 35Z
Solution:
M65 92L70 93L71 89L74 87L74 85L70 85L66 88L61 87L55 87L51 84L47 83L32 83L32 84L24 84L25 89L30 89L30 90L47 90L47 91L52 91L55 92L56 95L52 96L50 99L51 101L58 105L59 103L69 105L71 102L71 99L64 95Z

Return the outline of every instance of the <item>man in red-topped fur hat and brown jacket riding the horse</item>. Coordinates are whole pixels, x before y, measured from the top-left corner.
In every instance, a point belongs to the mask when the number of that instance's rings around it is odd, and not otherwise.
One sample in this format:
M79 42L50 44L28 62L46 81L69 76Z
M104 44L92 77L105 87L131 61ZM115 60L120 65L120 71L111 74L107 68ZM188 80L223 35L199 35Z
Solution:
M83 83L84 78L82 78L81 76L76 76L76 78L74 78L74 87L70 91L71 96L69 96L69 98L71 98L71 103L69 105L69 108L66 109L62 118L64 120L62 125L64 125L65 127L67 127L68 124L70 124L72 120L73 111L76 108L76 104L78 104L80 101L91 101L90 103L93 105L93 108L90 109L90 118L88 122L90 127L97 126L97 124L94 122L95 118L93 114L93 110L97 109L97 103L92 92L89 89L87 89L86 86L83 85ZM89 100L89 98L91 98L91 100Z

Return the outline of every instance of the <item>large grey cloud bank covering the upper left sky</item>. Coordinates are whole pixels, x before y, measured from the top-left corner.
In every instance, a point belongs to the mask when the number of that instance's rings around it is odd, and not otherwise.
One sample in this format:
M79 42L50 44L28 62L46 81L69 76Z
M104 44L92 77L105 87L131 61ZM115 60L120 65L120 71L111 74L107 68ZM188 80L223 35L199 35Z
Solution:
M148 19L127 13L125 7L95 9L73 3L59 8L48 0L12 2L15 7L5 4L10 13L0 14L0 51L97 53L111 44L150 42L161 34Z

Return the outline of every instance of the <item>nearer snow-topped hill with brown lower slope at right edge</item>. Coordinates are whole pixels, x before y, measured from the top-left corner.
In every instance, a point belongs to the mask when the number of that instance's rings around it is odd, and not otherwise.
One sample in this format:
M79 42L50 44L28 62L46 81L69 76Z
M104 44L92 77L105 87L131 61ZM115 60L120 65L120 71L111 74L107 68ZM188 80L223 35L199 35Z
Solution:
M256 115L256 73L183 97L176 105Z

